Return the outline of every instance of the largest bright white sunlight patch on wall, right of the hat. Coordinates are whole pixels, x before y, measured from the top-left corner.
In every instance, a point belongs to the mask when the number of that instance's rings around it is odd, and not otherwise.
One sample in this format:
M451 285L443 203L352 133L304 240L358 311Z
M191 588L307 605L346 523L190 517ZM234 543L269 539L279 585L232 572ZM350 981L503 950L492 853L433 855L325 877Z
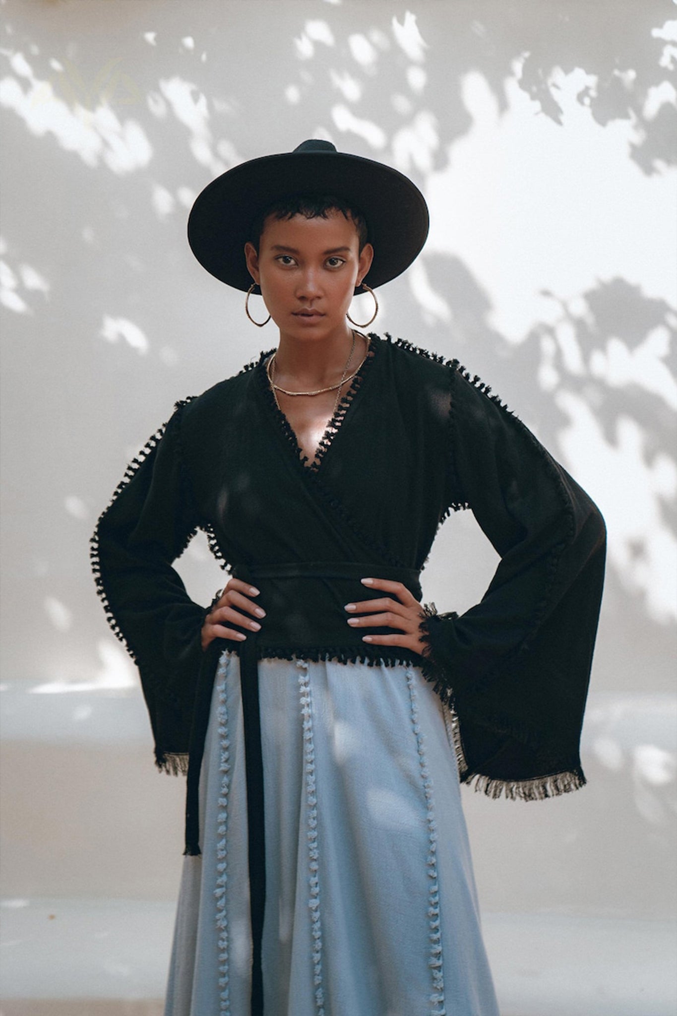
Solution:
M632 124L596 123L578 101L586 75L574 70L554 75L562 130L540 115L519 75L516 65L503 113L479 71L464 77L473 125L449 146L448 166L428 178L435 214L426 246L428 254L463 257L491 294L492 325L515 343L548 319L546 292L568 299L592 289L602 266L607 277L639 283L649 296L671 293L675 245L665 215L674 174L648 181L628 160ZM619 206L623 236L653 243L619 243Z

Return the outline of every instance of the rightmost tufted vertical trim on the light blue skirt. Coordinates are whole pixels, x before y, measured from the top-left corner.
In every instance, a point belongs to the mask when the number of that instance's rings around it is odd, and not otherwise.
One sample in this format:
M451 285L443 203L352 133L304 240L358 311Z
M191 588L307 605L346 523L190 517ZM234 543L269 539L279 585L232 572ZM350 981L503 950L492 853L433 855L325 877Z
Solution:
M425 757L425 746L418 722L418 703L414 686L413 672L406 673L409 702L411 705L411 728L416 740L418 766L425 797L426 824L428 830L428 853L426 859L428 876L428 941L430 943L430 958L428 966L432 977L432 992L429 996L430 1016L446 1016L445 1006L445 971L443 962L442 933L439 930L439 884L437 882L437 826L434 817L434 799L432 796L432 780Z

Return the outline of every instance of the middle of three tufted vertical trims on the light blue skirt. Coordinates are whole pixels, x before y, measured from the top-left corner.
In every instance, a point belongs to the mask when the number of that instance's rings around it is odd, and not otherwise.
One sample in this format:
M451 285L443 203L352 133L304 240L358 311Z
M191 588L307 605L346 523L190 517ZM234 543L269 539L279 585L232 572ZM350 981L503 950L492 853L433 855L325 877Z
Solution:
M325 995L322 982L322 917L320 912L320 865L318 850L318 795L315 778L315 742L313 738L313 704L308 662L296 660L300 711L303 717L303 768L306 771L306 804L308 806L308 867L311 911L313 985L317 1016L325 1016Z

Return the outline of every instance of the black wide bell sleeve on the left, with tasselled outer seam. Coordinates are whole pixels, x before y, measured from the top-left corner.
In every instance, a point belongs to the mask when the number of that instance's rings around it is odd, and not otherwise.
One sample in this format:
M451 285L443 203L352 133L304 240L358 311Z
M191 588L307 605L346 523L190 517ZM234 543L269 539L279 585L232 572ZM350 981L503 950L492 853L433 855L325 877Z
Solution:
M133 459L91 538L91 562L109 623L135 660L155 740L155 760L185 771L205 609L172 567L200 524L181 454L177 403Z

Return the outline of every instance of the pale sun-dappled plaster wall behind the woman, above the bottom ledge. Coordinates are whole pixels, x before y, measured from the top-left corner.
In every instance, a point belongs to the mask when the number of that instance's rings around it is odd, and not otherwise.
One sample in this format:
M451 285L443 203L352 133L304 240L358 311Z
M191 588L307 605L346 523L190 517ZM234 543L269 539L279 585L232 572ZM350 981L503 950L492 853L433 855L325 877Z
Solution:
M480 374L609 525L590 785L542 805L466 795L481 902L674 914L675 5L0 13L4 894L176 895L183 788L154 774L87 541L175 400L275 341L194 260L193 198L322 136L411 175L430 204L419 261L380 293L381 330ZM494 563L472 517L450 519L425 598L465 609ZM200 539L181 570L199 601L223 584Z

